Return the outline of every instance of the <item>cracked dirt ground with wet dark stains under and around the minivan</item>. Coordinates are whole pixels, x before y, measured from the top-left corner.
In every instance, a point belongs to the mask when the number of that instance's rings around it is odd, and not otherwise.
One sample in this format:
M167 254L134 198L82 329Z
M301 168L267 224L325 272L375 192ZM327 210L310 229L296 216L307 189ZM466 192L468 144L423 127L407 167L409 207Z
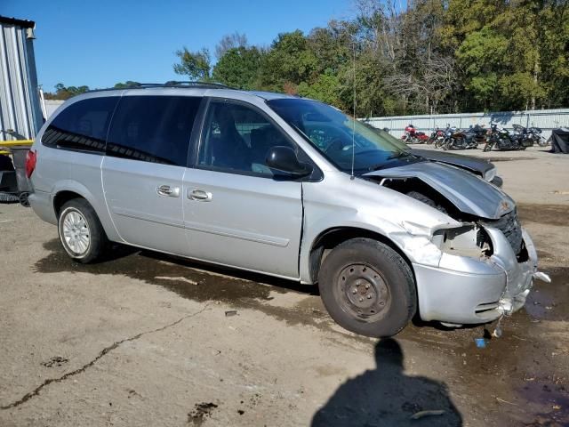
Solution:
M312 286L147 251L79 265L0 205L0 425L569 425L569 157L469 154L495 161L553 278L500 339L363 338Z

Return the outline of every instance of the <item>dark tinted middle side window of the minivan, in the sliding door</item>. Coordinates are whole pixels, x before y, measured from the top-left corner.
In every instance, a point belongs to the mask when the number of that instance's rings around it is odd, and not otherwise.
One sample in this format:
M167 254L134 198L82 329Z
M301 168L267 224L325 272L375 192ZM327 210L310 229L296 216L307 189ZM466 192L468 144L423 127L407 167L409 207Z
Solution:
M110 126L107 155L185 166L201 101L188 96L124 96Z

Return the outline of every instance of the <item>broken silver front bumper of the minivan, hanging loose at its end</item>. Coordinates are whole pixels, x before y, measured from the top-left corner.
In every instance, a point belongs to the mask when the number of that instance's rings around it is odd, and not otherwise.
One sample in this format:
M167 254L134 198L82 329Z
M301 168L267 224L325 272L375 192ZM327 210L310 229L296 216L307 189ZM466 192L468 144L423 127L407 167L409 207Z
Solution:
M413 263L423 320L454 324L486 323L525 304L537 272L533 241L523 230L524 262L501 230L486 228L493 255L486 260L443 254L438 267Z

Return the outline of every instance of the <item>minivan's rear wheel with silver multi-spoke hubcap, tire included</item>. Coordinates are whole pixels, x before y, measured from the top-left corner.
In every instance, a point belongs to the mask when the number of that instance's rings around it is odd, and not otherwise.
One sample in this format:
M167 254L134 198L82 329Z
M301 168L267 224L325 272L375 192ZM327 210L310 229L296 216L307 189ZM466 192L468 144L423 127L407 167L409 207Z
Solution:
M76 262L97 261L108 247L99 218L84 198L74 198L61 207L58 230L61 245Z

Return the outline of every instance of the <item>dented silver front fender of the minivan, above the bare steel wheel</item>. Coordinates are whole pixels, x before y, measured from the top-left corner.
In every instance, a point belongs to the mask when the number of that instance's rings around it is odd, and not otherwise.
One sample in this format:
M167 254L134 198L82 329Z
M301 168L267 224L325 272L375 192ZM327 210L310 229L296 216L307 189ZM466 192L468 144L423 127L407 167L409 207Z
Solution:
M437 266L441 252L431 241L433 233L462 225L429 205L370 181L350 179L346 173L327 173L325 180L326 185L302 184L302 283L312 283L310 252L327 230L369 230L388 238L411 262Z

